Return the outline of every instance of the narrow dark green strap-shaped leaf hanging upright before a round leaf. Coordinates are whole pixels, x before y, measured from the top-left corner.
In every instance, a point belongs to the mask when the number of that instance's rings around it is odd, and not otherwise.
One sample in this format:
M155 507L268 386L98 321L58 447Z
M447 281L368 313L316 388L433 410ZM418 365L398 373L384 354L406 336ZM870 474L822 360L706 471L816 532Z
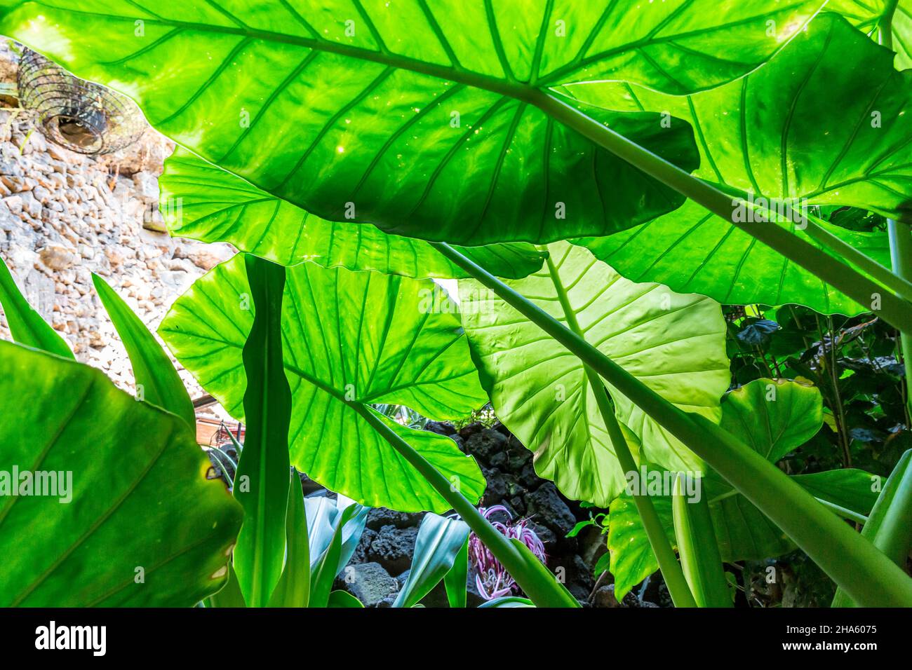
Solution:
M247 432L233 491L244 508L244 525L234 549L234 572L244 601L251 607L264 607L279 582L285 559L292 411L282 360L285 267L252 255L239 258L244 261L255 314L241 356Z

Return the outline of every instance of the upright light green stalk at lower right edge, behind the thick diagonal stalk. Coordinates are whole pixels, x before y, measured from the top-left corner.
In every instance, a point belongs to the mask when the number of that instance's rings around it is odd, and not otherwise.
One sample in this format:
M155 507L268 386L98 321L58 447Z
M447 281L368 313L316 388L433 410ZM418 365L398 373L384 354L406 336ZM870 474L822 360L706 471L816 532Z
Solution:
M864 538L883 551L888 559L902 567L912 549L912 449L896 463L886 479L884 490L877 496L874 509L861 531ZM832 607L854 607L843 589L836 589Z

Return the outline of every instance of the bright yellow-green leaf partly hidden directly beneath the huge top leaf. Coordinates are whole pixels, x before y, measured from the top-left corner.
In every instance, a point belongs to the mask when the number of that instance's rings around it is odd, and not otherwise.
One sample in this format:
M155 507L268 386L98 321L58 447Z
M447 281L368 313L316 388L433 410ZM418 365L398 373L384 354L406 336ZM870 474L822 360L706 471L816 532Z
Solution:
M161 211L172 235L232 242L275 263L312 261L326 268L377 270L407 277L468 275L428 242L390 235L369 224L328 222L261 191L231 172L178 148L159 180ZM511 279L542 267L528 242L459 247L490 272Z

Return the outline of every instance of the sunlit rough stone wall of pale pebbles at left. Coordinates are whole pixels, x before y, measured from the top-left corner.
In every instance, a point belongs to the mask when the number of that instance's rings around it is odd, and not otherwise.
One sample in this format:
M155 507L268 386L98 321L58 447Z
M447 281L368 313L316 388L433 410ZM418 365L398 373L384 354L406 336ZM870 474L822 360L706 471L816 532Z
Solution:
M15 77L16 55L0 47L0 81ZM0 109L0 256L78 360L101 368L126 390L133 387L130 361L91 273L154 331L197 277L234 253L228 244L147 230L161 229L158 177L173 148L147 129L118 153L83 156L48 142L29 113ZM0 337L9 338L3 316ZM201 395L189 374L181 376L192 397Z

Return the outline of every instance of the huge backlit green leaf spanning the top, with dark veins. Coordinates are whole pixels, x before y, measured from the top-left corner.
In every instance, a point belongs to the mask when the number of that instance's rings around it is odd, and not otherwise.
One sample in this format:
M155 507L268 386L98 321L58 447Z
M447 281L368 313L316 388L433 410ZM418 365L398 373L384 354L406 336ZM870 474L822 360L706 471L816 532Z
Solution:
M480 244L608 234L682 201L547 117L544 91L716 86L824 0L5 5L6 35L128 93L153 126L264 190L331 221ZM684 124L589 113L696 167Z

